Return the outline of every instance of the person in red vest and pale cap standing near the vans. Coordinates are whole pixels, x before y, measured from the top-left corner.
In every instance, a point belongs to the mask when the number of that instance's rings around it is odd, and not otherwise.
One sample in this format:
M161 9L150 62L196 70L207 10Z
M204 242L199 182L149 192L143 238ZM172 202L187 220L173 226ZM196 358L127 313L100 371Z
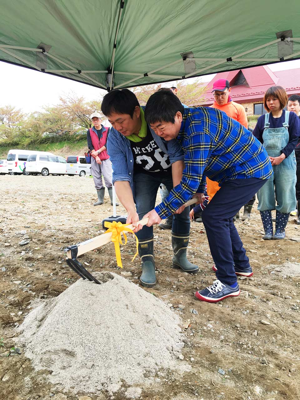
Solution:
M93 127L88 129L87 140L88 148L92 153L91 173L98 196L98 201L94 203L94 206L98 206L104 202L105 187L102 182L102 175L110 196L110 203L112 204L112 163L106 151L110 128L101 124L102 116L99 112L93 112L90 119L92 120ZM116 205L118 206L118 204Z

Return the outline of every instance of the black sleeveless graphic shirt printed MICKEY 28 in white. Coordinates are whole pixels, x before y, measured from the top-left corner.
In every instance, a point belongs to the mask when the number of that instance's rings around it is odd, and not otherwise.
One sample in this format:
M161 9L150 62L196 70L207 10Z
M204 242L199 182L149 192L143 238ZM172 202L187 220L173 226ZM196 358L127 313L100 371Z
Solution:
M134 157L134 172L163 172L170 168L168 154L163 152L154 140L149 127L147 136L141 142L130 141Z

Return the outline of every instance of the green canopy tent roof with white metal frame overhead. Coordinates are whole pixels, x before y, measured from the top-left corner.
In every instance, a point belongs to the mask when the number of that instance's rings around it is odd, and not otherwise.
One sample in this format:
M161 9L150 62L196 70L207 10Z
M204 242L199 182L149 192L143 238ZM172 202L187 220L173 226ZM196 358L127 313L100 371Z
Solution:
M0 60L110 90L300 57L281 0L1 0Z

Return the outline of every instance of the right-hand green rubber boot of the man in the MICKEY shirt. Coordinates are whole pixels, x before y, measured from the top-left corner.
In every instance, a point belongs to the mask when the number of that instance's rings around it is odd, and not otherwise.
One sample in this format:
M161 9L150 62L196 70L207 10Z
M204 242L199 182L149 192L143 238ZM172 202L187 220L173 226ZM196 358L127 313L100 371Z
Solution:
M172 235L172 247L173 247L173 267L181 268L182 271L196 274L199 271L199 267L192 264L186 258L186 248L188 247L189 234L185 233L174 233Z

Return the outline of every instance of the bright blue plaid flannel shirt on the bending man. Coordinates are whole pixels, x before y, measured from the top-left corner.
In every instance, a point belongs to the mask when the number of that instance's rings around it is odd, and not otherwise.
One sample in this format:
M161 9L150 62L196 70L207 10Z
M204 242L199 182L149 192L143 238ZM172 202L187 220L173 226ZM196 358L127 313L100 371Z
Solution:
M264 146L239 122L216 108L185 108L177 140L184 151L182 180L155 210L160 218L175 212L192 196L204 193L206 176L220 184L230 179L269 179Z

